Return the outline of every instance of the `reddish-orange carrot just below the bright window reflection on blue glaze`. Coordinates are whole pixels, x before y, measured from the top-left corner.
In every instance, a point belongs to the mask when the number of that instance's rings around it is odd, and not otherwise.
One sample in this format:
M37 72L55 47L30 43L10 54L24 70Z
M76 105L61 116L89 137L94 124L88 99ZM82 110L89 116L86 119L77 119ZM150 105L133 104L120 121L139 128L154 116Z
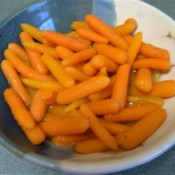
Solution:
M42 32L42 36L57 45L65 46L73 51L81 51L88 48L88 45L84 42L81 42L74 37L66 36L59 32L45 30Z

